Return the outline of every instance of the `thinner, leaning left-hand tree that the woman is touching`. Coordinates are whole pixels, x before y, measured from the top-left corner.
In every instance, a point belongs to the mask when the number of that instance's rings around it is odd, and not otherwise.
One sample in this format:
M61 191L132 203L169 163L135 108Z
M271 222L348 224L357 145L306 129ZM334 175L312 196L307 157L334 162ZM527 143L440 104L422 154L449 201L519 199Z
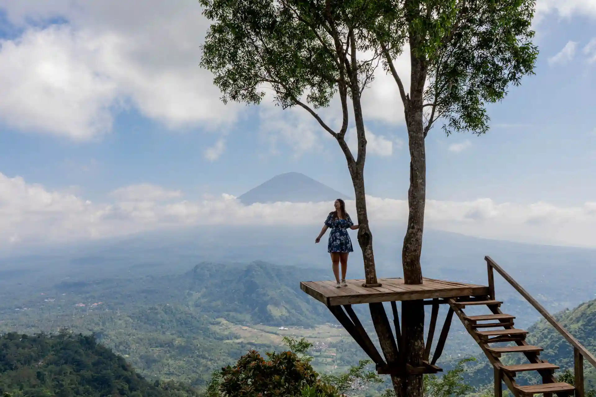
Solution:
M368 27L380 15L368 0L200 0L213 23L203 45L201 65L215 75L222 101L260 104L266 90L282 108L301 107L339 144L352 177L358 215L358 243L366 284L377 285L373 236L364 189L367 139L361 96L373 80L380 54L360 58ZM383 10L376 10L383 11ZM342 124L332 129L316 113L339 96ZM350 101L349 101L350 100ZM345 135L350 108L358 138L356 158ZM381 349L389 364L398 351L382 304L370 304ZM397 378L392 377L394 385Z

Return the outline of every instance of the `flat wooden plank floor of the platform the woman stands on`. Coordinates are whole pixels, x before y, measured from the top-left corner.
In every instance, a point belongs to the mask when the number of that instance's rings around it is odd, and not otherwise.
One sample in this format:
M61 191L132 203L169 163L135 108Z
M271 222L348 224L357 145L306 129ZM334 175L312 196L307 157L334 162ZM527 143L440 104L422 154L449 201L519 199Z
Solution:
M300 289L327 306L489 295L487 286L426 278L421 285L406 285L403 279L378 279L381 286L372 288L362 287L364 280L346 282L347 287L336 288L334 281L304 281Z

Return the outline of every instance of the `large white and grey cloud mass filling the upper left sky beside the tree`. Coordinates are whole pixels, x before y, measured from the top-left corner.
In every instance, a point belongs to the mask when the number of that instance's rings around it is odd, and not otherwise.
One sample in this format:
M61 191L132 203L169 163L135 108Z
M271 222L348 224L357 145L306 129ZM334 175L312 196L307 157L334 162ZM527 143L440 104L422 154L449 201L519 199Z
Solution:
M193 2L0 0L23 36L0 49L0 117L75 139L108 132L119 105L171 128L231 123L198 66L208 23ZM29 20L63 17L35 29Z

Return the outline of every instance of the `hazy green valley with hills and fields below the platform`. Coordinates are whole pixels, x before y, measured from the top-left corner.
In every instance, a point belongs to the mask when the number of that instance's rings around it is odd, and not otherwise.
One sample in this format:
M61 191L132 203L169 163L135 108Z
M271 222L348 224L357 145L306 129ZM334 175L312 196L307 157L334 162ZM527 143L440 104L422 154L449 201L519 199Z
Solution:
M309 279L328 277L321 270L307 271ZM313 343L309 354L319 373L346 371L367 357L324 305L299 290L304 274L303 268L265 262L204 262L167 276L66 279L23 286L2 296L0 332L51 333L50 339L56 340L60 332L66 335L66 329L73 335L92 335L151 385L173 382L197 392L204 389L214 370L233 364L247 351L285 349L284 336L305 337ZM557 314L592 351L596 348L595 305L587 302ZM374 338L367 307L355 310ZM563 369L572 367L572 351L548 324L539 322L530 330L537 339L532 343L545 347L545 358L562 364ZM462 376L470 385L484 387L492 376L488 361L454 321L439 365L451 370L467 357L478 360L468 362ZM586 379L594 382L593 373ZM384 386L370 390L380 392Z

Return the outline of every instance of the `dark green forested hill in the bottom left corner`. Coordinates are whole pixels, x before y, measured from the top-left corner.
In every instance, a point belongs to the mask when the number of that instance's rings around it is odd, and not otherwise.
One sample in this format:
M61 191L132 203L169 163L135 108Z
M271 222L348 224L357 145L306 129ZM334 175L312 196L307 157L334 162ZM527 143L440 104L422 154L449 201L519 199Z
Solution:
M13 397L198 396L174 382L150 383L93 336L0 337L0 395Z

